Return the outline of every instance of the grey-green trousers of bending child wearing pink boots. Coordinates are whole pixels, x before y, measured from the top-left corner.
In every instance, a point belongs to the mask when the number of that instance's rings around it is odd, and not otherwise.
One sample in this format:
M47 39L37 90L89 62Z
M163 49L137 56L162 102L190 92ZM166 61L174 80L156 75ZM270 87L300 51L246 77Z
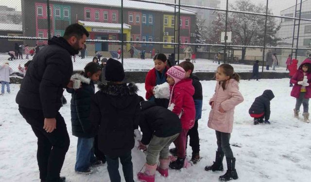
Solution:
M148 165L155 165L157 155L160 153L160 159L168 159L170 152L169 147L171 143L178 137L179 133L169 137L157 137L153 135L148 149L146 161Z

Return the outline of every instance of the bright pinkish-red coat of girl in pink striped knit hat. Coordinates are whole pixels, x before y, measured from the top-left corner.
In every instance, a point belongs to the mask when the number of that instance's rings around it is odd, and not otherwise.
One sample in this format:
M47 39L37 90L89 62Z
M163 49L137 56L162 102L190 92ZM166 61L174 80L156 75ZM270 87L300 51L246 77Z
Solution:
M171 86L170 107L177 116L180 114L181 128L190 130L194 126L195 106L193 101L194 87L192 79L183 79Z

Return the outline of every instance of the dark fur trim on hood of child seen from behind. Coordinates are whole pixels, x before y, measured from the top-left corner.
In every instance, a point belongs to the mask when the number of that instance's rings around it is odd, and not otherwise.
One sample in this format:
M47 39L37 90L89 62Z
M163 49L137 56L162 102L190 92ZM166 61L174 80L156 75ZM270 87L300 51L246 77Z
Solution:
M138 87L135 83L99 83L98 88L101 92L111 96L131 96L138 91Z

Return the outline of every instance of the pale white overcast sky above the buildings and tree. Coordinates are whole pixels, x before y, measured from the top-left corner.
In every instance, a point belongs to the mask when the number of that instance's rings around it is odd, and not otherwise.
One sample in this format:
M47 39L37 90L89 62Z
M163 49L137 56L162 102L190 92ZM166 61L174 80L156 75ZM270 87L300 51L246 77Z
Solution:
M221 1L220 8L225 9L226 0L220 0L220 1ZM229 4L235 3L236 1L237 0L229 0ZM249 0L249 1L252 1L256 4L259 4L259 3L264 4L264 5L266 4L266 0ZM299 1L300 0L298 0L298 2ZM0 5L5 5L5 6L12 7L12 8L16 8L17 11L21 10L20 0L0 0ZM289 8L293 5L295 5L295 0L269 0L268 7L273 10L273 13L275 15L279 15L281 10Z

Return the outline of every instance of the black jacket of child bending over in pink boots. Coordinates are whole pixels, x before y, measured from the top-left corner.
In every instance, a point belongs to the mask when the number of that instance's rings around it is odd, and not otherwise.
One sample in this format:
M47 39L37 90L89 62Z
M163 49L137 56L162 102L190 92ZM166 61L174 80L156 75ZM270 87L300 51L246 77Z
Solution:
M148 145L153 134L157 137L169 137L181 131L180 119L172 111L157 106L153 101L142 101L140 107L141 143Z

